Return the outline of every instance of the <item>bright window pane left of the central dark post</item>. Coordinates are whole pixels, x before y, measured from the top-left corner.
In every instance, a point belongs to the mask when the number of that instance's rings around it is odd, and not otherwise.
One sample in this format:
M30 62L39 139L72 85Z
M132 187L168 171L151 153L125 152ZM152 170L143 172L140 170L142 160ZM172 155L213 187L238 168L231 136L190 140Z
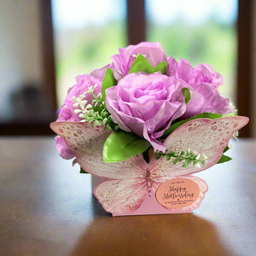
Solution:
M60 108L77 75L107 65L126 46L125 2L52 0L52 14Z

